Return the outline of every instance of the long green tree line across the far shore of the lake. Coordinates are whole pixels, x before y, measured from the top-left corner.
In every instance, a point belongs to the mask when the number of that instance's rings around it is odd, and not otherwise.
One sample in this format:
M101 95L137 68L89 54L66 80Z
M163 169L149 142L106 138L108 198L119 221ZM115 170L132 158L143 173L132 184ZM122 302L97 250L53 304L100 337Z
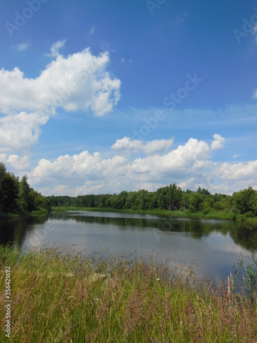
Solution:
M257 191L248 187L234 192L232 196L221 193L212 195L208 189L198 187L197 191L182 191L175 183L157 191L122 191L119 194L77 196L49 196L50 206L97 207L103 209L132 210L187 210L188 212L211 212L257 216Z

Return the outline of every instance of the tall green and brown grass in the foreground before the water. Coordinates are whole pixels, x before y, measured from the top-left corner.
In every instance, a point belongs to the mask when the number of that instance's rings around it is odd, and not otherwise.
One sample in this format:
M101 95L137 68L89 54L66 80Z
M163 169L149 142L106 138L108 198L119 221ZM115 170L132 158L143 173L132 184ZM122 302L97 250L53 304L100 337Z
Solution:
M0 247L1 289L9 265L11 342L257 342L256 293L232 275L195 287L191 270L170 276L154 260ZM5 342L4 292L0 303Z

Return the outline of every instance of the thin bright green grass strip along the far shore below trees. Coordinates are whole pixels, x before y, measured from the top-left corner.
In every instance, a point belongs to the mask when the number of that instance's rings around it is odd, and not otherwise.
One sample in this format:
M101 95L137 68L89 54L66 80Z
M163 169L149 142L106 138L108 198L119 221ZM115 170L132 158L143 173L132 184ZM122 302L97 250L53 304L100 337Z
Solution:
M140 213L140 214L151 214L160 215L163 217L180 217L190 219L214 219L214 220L236 220L237 222L245 222L247 224L257 225L257 217L245 217L244 215L234 215L230 212L219 212L214 211L210 213L195 212L191 213L189 210L182 211L168 211L168 210L132 210L132 209L105 209L100 207L75 207L75 206L52 206L51 211L53 212L64 212L64 211L100 211L100 212L118 212L118 213Z

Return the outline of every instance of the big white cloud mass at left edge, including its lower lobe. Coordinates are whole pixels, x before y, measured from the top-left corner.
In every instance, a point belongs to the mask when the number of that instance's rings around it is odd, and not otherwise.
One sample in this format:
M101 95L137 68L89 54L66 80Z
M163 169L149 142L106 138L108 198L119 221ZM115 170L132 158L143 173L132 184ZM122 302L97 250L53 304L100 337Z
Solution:
M14 152L38 141L40 126L58 108L105 115L120 99L121 82L106 70L108 53L93 56L85 49L58 56L37 78L19 68L0 70L0 152Z

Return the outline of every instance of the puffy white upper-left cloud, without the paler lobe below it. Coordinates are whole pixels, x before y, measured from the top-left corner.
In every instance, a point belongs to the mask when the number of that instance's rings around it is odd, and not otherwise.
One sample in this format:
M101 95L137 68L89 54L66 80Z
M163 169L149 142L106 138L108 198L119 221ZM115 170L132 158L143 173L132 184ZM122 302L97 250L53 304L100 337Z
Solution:
M25 78L19 68L0 71L0 110L40 110L55 114L56 108L92 110L104 115L120 99L120 80L106 71L108 53L93 56L89 49L68 58L58 56L35 79ZM19 89L19 92L17 91Z

